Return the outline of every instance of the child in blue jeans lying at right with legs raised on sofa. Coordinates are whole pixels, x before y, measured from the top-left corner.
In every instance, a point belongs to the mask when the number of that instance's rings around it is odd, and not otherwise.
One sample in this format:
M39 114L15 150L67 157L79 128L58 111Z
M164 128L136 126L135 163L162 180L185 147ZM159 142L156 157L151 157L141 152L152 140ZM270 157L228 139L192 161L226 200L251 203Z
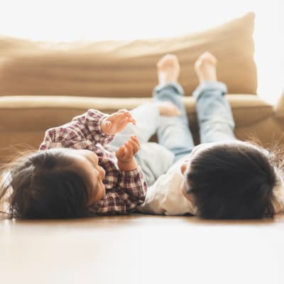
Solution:
M284 211L282 165L276 153L234 136L234 118L224 98L226 86L217 82L216 65L210 53L202 54L195 62L200 85L193 96L201 141L195 147L178 84L178 59L166 55L158 62L159 86L154 97L173 102L182 112L179 118L163 117L163 121L175 120L175 131L168 132L173 136L171 145L167 144L170 140L161 141L178 161L148 187L146 200L138 207L140 212L258 219ZM183 149L180 133L187 141Z

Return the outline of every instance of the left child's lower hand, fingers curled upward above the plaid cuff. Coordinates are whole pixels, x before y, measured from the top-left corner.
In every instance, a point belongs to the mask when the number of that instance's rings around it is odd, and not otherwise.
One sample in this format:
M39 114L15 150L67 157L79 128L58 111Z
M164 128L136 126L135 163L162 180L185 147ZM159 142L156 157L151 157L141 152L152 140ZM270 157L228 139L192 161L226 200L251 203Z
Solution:
M138 152L139 148L140 143L134 135L116 151L119 170L135 170L137 168L134 155Z

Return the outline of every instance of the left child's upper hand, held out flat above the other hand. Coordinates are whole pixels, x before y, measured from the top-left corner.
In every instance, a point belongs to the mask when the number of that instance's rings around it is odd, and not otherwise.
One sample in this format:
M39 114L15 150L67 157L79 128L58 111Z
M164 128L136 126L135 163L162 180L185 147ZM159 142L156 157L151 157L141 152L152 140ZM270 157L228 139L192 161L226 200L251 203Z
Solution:
M124 130L129 123L136 124L131 113L126 109L119 109L114 114L110 114L102 121L102 131L108 135L114 135Z

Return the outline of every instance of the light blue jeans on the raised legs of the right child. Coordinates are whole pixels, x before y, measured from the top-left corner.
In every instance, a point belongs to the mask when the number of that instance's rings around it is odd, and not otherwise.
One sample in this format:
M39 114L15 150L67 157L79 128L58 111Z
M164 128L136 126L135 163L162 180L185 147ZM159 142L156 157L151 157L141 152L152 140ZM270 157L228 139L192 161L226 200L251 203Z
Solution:
M224 98L226 92L226 85L222 82L203 82L193 92L200 128L200 143L236 139L231 107ZM182 112L181 116L160 116L157 131L159 144L174 153L175 161L180 160L195 147L182 102L183 94L180 84L155 87L153 92L154 101L173 102Z

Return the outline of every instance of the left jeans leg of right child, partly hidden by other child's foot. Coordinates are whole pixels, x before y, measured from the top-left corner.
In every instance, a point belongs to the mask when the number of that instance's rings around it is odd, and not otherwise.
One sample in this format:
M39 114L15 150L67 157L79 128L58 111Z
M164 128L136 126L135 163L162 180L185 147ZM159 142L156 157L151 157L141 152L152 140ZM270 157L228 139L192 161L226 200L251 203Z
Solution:
M182 112L181 116L160 116L157 136L160 145L175 155L175 161L184 157L194 148L192 133L189 129L187 113L182 102L183 89L180 84L170 83L155 87L155 102L170 101Z

